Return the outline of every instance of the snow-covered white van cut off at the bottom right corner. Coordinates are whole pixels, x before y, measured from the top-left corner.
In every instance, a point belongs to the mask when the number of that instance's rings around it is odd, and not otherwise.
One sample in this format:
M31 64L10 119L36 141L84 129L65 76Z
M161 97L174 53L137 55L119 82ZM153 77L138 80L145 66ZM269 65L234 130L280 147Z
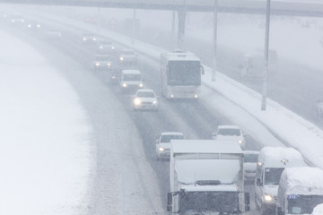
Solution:
M322 169L284 169L278 187L277 215L310 214L320 203L323 203Z

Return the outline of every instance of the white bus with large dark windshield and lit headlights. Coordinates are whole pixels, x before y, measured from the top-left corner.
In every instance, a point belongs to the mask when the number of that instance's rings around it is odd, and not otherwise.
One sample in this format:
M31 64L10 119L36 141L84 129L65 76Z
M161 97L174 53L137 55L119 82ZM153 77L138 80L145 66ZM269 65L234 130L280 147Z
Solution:
M166 99L197 99L204 68L193 53L175 50L161 55L162 95Z

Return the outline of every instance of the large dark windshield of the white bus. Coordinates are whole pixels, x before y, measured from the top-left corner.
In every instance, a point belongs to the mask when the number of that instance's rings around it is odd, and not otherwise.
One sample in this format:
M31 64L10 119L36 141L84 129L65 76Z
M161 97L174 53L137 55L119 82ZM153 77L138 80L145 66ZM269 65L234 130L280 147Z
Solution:
M200 86L201 67L199 61L171 61L167 81L170 86Z

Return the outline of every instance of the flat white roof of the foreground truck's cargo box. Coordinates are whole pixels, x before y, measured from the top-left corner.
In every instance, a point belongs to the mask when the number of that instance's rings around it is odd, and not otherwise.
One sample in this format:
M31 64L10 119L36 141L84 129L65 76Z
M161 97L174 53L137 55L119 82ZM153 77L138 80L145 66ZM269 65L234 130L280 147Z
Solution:
M238 142L229 140L171 140L170 143L173 153L243 153Z

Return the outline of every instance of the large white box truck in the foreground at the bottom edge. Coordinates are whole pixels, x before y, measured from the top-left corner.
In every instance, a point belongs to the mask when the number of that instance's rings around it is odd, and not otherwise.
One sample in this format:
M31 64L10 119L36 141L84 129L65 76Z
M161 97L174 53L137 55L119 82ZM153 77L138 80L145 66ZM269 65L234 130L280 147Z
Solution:
M179 215L249 211L243 152L238 142L170 141L167 210Z

